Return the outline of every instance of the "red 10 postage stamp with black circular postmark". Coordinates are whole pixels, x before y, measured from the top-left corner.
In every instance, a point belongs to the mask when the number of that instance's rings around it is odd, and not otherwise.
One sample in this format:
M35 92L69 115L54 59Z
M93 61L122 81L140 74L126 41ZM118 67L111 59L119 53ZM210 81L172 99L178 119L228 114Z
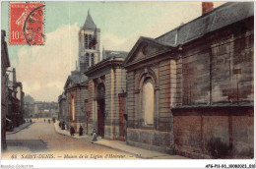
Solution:
M44 44L44 3L10 2L10 44Z

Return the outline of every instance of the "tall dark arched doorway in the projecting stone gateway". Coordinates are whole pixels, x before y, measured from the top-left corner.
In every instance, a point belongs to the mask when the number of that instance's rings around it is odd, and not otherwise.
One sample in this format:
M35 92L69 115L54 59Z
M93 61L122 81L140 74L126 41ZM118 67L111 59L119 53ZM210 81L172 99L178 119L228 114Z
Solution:
M105 110L104 84L97 85L96 100L97 100L97 135L104 137L104 110Z

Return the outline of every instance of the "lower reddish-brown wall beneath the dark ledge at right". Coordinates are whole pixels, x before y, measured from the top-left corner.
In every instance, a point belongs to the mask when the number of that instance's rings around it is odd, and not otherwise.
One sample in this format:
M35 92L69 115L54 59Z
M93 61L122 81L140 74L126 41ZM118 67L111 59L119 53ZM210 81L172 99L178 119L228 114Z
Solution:
M180 109L174 112L175 152L190 158L251 158L253 108Z

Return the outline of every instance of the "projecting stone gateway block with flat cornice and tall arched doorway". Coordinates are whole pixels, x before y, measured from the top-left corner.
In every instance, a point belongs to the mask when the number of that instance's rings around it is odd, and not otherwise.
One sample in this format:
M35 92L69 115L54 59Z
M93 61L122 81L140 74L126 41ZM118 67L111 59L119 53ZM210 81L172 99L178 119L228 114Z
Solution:
M126 71L122 62L127 52L103 50L103 60L89 68L86 112L89 130L96 129L98 136L109 140L125 141L124 119Z

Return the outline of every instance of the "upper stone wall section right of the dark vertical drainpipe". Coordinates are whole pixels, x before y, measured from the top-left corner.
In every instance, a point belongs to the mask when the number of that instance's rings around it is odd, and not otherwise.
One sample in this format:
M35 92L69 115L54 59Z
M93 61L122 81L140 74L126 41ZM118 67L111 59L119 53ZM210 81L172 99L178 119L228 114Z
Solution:
M229 31L211 46L213 103L253 101L253 29Z

